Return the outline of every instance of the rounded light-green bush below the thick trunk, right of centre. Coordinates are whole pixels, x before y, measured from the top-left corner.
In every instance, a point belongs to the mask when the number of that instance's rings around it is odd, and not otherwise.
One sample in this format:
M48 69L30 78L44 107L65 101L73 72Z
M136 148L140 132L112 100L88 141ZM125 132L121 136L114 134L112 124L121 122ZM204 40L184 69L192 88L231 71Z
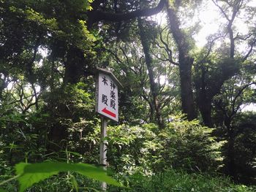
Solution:
M200 126L197 120L174 118L165 130L159 132L162 152L157 166L189 172L216 169L219 144L211 137L211 131L211 128Z

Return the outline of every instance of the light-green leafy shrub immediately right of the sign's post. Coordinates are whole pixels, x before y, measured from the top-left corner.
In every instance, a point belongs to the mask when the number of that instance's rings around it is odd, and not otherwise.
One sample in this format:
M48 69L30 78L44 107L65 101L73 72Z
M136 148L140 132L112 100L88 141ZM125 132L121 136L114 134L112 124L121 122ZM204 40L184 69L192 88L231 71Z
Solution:
M132 174L140 170L151 171L146 153L146 142L156 135L154 124L143 126L113 126L108 128L108 162L120 174Z

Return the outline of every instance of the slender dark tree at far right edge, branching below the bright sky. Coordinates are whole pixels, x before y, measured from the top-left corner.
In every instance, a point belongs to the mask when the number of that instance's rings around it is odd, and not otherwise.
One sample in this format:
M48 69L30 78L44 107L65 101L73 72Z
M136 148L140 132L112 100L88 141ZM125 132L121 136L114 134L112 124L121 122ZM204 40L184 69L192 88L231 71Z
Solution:
M239 126L235 126L235 118L241 114L239 112L241 105L254 102L252 98L255 95L255 91L252 88L255 82L252 82L252 76L248 76L248 73L246 73L247 78L236 75L225 82L221 93L214 99L217 112L219 113L217 115L219 116L219 124L221 127L225 126L225 136L222 137L227 139L227 146L224 151L226 172L236 180L238 180L236 139L239 134L242 135L244 130Z

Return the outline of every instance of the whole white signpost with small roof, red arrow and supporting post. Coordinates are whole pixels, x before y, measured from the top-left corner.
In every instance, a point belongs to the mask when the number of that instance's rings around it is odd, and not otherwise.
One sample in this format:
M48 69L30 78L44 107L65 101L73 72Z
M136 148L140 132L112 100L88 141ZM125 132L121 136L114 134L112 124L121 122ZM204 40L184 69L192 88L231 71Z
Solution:
M107 167L107 121L118 122L118 87L122 85L112 72L97 68L95 110L101 115L99 164L104 169ZM102 182L101 187L102 191L106 191L107 183Z

